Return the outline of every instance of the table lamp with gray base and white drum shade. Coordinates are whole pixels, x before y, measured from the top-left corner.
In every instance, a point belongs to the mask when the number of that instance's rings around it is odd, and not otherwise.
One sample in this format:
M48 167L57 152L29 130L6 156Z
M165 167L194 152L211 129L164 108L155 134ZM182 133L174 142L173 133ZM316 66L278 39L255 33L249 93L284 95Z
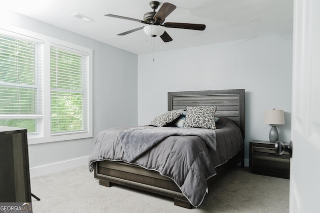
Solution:
M267 109L264 113L264 123L271 124L272 127L269 132L269 141L276 142L279 140L279 133L275 128L275 125L284 124L284 113L280 109Z

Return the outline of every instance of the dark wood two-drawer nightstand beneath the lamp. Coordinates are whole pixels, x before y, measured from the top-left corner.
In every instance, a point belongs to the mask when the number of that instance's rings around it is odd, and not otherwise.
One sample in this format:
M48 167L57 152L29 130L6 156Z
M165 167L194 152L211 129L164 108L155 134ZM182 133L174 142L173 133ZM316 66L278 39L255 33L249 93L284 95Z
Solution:
M254 174L289 179L290 156L287 152L275 154L274 143L253 140L249 143L249 168Z

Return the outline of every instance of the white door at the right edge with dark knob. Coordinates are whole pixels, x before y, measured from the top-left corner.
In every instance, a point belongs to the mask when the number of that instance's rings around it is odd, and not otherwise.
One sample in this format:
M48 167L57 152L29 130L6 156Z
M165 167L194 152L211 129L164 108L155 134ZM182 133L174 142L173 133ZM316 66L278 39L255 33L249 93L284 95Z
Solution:
M320 212L320 0L294 0L290 213Z

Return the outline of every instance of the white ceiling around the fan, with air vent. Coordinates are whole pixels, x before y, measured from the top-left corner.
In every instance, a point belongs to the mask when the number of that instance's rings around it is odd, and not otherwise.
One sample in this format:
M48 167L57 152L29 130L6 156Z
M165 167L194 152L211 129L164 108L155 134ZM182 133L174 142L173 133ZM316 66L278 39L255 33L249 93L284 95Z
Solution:
M153 42L143 30L119 36L118 33L145 24L104 16L111 13L143 20L143 14L152 11L149 1L6 0L1 7L136 54L152 52L153 45L154 51L163 51L292 31L293 0L168 0L176 9L165 22L200 23L206 28L166 28L173 38L167 43L159 37ZM94 21L71 16L76 12ZM258 21L251 21L252 18Z

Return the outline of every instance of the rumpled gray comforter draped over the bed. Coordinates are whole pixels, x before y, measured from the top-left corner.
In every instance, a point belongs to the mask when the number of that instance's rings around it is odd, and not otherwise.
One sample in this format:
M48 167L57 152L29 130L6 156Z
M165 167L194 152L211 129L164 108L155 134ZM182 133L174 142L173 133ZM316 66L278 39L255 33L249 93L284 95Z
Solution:
M151 131L161 129L143 126L142 128L134 127L133 130L140 131L143 128ZM170 133L156 142L150 142L152 148L143 148L128 160L128 153L134 153L134 151L127 151L127 148L132 145L129 140L123 142L123 138L128 136L125 132L129 129L128 127L112 128L98 134L89 156L89 171L93 170L94 162L102 160L124 161L158 171L161 175L172 179L194 207L202 203L207 193L206 180L216 174L214 168L235 155L243 144L239 128L231 120L220 118L216 130L191 128L192 132L201 131L201 133L193 133L194 135L185 132L182 134L181 131L184 131L182 130L184 128L170 128L171 132L176 133ZM132 147L136 149L136 146Z

